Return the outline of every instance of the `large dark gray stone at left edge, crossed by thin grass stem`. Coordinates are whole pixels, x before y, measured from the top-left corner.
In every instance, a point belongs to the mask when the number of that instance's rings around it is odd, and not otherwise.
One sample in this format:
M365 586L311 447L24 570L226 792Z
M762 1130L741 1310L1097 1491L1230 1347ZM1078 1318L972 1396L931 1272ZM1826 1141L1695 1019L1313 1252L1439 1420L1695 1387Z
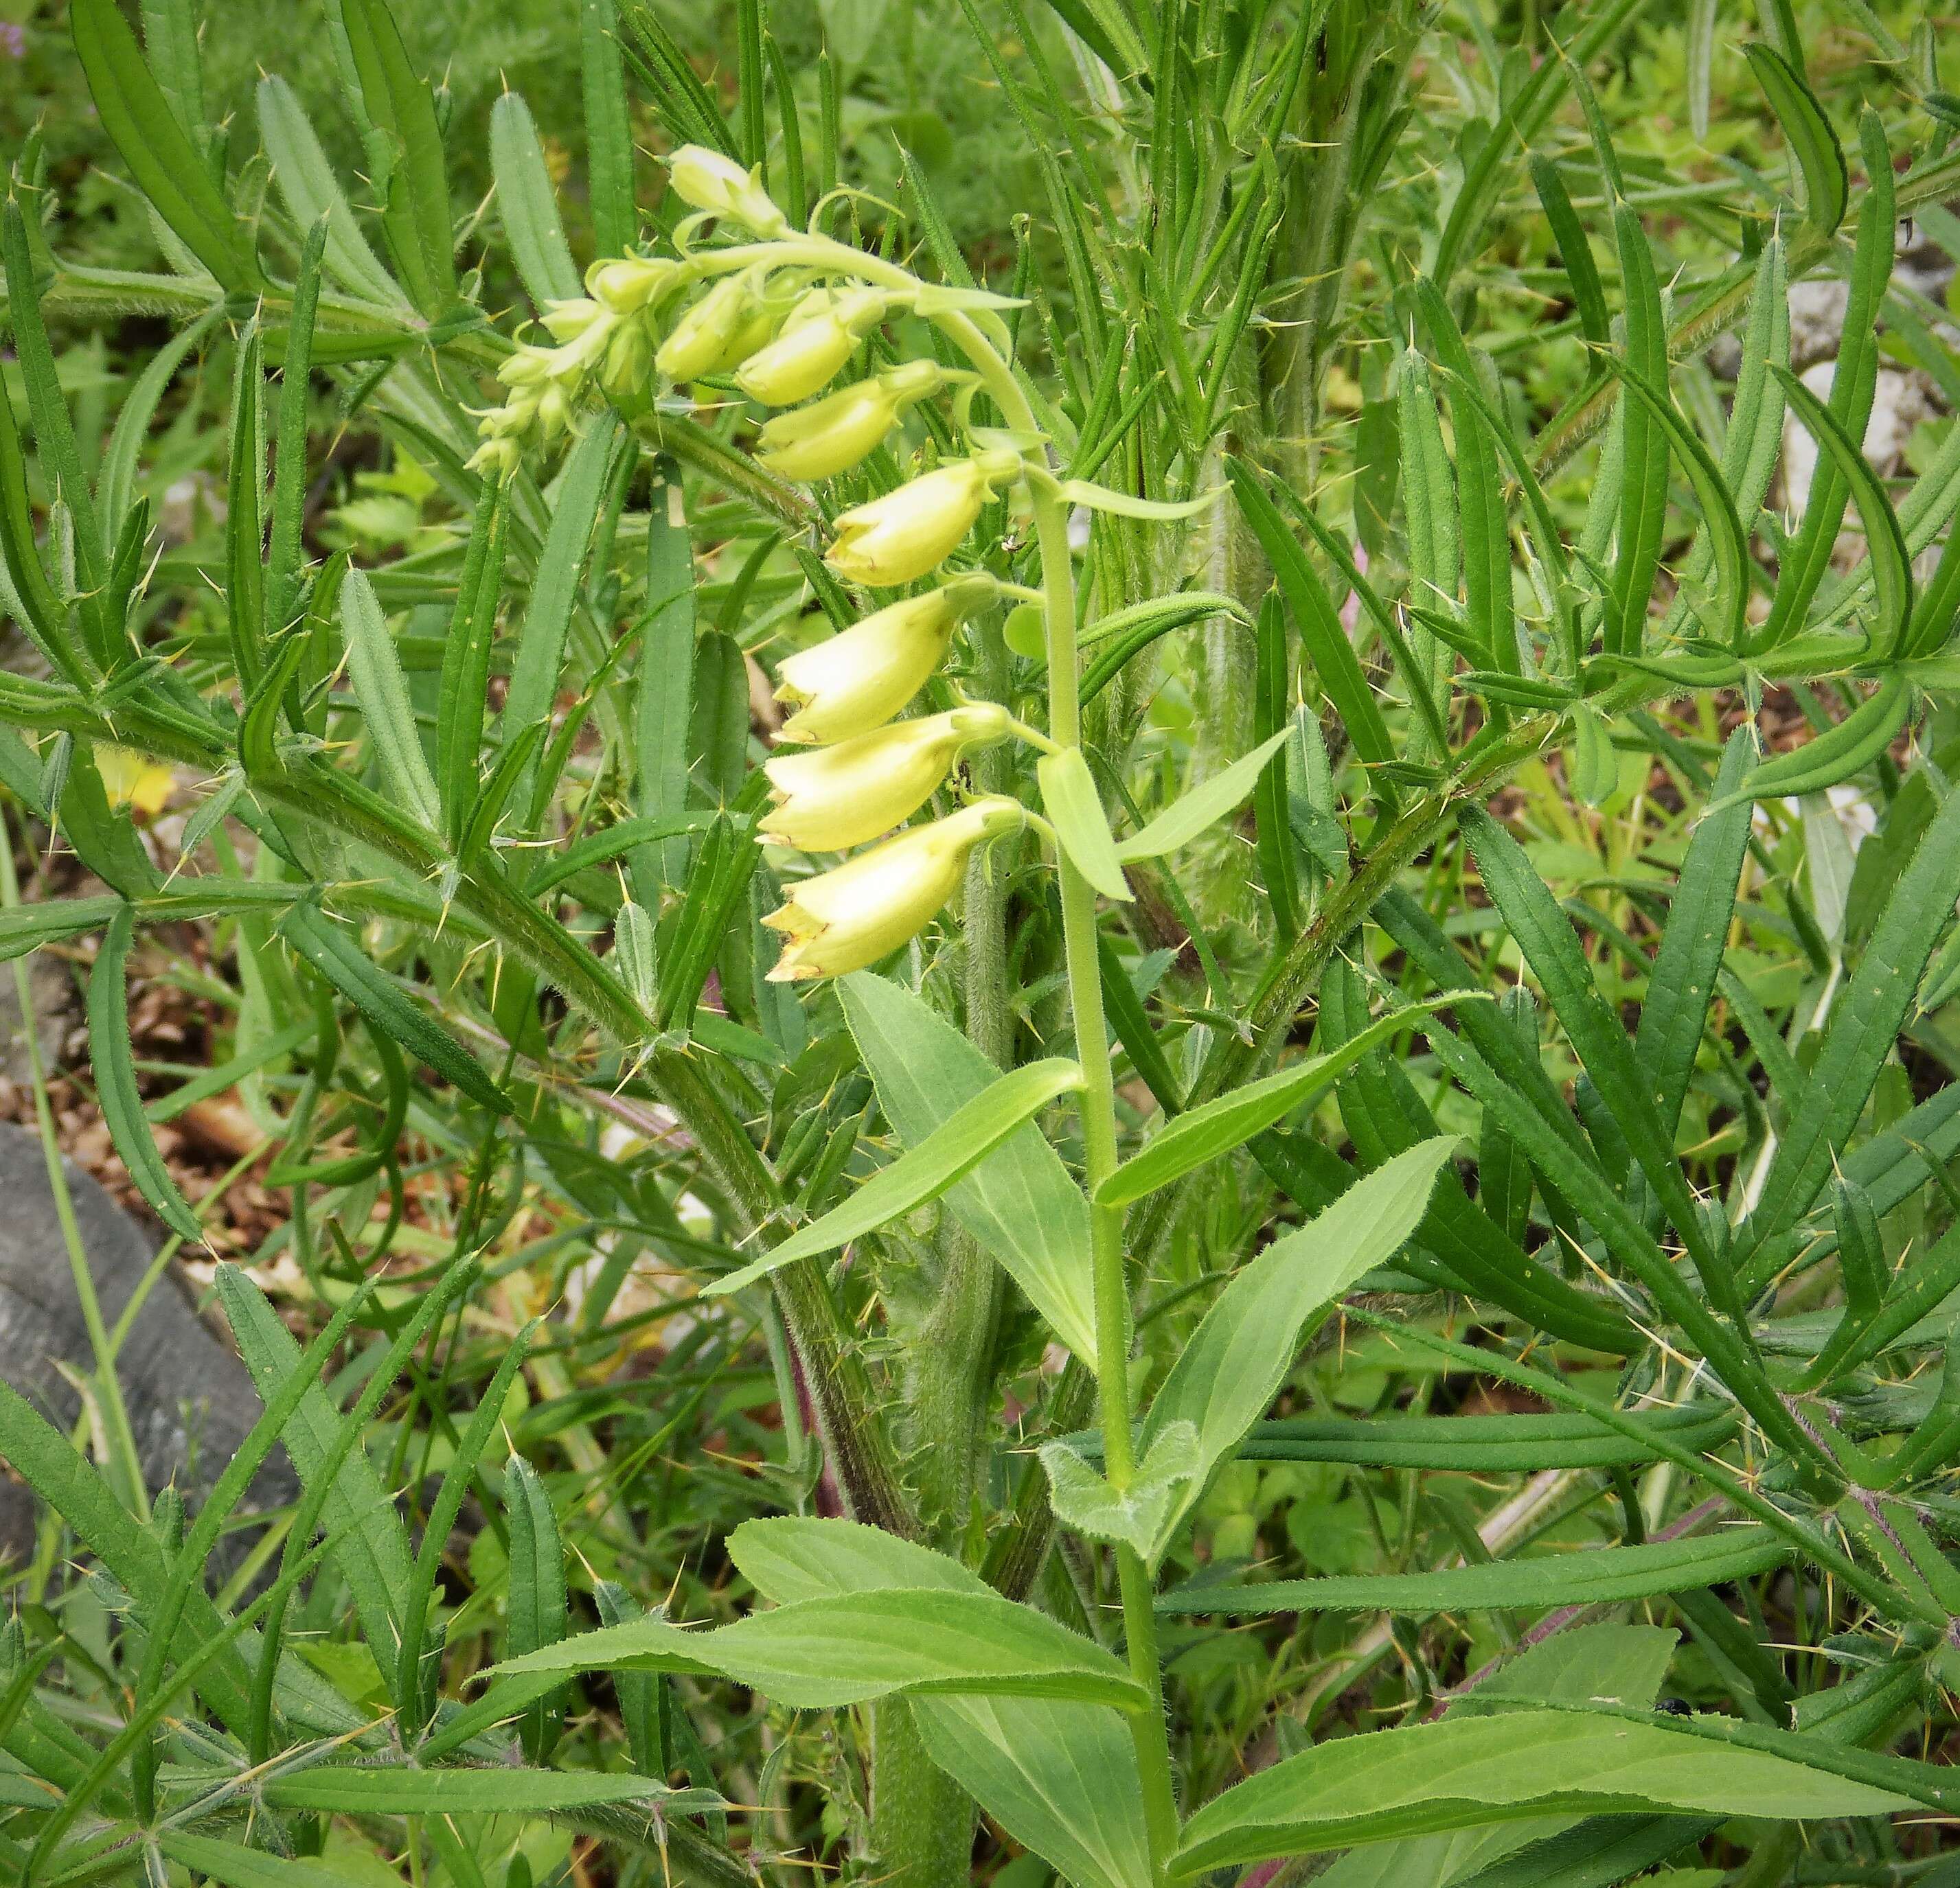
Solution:
M102 1318L114 1328L157 1255L157 1240L73 1161L65 1171ZM80 1398L63 1369L86 1377L94 1355L47 1161L35 1134L0 1124L0 1377L69 1432ZM174 1481L196 1512L257 1422L259 1396L245 1365L204 1326L174 1273L151 1287L123 1340L116 1375L149 1487ZM251 1506L276 1506L292 1494L292 1469L274 1451L253 1487ZM29 1490L0 1481L0 1559L25 1559L33 1528Z

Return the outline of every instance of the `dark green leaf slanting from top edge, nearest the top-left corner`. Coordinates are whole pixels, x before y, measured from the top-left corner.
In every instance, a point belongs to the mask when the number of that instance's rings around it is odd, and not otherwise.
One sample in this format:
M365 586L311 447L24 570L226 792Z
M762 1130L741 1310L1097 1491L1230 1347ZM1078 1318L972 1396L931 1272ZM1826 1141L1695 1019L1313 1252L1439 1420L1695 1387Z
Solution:
M74 0L69 24L102 127L143 194L221 288L249 288L257 278L251 237L151 78L116 0Z

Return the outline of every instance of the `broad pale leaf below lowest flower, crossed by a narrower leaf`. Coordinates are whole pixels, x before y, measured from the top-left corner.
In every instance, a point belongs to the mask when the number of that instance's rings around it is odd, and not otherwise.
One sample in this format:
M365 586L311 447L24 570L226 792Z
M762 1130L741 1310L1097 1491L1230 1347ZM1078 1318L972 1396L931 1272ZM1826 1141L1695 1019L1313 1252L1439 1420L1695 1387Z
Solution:
M878 1107L907 1148L1000 1079L978 1048L900 985L858 971L839 995ZM947 1191L947 1206L1062 1344L1084 1363L1094 1359L1090 1210L1041 1130L1027 1122L1009 1134Z

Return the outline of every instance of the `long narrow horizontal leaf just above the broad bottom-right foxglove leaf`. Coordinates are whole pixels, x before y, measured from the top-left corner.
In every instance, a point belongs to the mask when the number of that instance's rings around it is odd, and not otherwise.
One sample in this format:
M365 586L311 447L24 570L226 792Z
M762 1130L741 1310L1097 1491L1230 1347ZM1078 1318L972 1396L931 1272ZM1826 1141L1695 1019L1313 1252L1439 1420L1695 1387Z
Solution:
M1723 1586L1789 1559L1789 1543L1768 1528L1637 1547L1592 1547L1511 1561L1478 1561L1441 1573L1380 1573L1325 1581L1266 1581L1256 1586L1194 1582L1166 1592L1158 1612L1472 1612L1484 1608L1603 1606Z

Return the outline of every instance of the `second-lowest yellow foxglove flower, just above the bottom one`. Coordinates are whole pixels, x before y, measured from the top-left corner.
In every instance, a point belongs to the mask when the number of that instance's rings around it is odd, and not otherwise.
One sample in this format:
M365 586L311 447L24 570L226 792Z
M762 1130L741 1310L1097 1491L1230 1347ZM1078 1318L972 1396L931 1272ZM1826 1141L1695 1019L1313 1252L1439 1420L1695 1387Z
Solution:
M811 754L776 754L766 766L776 805L762 834L798 852L843 852L890 832L939 791L966 748L1007 734L1007 711L974 701L945 715L894 721Z

